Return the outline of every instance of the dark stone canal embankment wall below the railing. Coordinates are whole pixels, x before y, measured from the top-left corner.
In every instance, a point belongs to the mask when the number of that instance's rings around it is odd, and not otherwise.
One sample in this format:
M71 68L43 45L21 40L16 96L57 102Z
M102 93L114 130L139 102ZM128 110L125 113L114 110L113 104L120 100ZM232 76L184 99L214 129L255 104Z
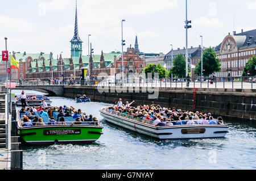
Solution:
M134 91L131 91L134 90ZM135 92L135 90L137 90ZM155 99L150 99L152 91L158 91ZM234 121L256 120L256 90L250 89L184 89L159 88L143 92L142 88L126 87L125 89L105 88L104 92L97 87L64 86L63 96L75 98L77 94L86 94L96 102L115 103L122 98L123 103L135 100L135 104L159 104L163 107L181 110L210 112Z

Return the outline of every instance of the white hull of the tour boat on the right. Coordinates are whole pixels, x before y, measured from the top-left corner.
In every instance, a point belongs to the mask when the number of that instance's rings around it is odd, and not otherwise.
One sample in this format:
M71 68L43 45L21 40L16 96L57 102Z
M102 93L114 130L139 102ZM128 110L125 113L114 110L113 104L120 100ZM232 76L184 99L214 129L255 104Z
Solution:
M192 139L192 138L221 138L228 133L227 125L174 125L171 127L155 127L154 125L118 116L100 110L106 121L130 131L155 137L160 140Z

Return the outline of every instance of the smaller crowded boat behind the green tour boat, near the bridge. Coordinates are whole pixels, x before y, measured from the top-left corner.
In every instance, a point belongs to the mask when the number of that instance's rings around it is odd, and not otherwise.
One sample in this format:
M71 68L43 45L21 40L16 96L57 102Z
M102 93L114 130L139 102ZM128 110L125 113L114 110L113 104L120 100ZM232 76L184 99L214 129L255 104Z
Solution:
M51 105L52 101L44 95L27 95L26 103L28 106L42 106L42 100L47 103L48 106ZM20 98L16 100L16 106L22 106L22 103L20 102Z

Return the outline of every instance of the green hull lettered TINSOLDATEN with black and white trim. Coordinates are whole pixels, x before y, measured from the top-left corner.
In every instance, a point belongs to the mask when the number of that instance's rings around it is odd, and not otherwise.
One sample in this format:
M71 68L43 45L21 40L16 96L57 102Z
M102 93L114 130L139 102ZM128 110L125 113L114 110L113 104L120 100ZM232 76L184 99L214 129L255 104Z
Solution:
M19 136L28 145L88 144L102 134L99 126L48 125L19 128Z

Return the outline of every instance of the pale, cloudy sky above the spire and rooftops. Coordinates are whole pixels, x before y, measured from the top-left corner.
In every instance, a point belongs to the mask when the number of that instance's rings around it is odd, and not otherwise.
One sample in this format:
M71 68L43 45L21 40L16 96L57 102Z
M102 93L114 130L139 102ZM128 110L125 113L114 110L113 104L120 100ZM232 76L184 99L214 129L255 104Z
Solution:
M121 50L121 20L126 47L147 53L168 53L185 47L185 0L78 0L79 35L88 54L88 34L97 54ZM0 47L16 52L63 52L70 57L75 21L75 0L10 0L0 4ZM216 46L228 32L256 28L255 0L188 0L189 47ZM234 23L235 22L235 23ZM234 28L235 27L235 28Z

